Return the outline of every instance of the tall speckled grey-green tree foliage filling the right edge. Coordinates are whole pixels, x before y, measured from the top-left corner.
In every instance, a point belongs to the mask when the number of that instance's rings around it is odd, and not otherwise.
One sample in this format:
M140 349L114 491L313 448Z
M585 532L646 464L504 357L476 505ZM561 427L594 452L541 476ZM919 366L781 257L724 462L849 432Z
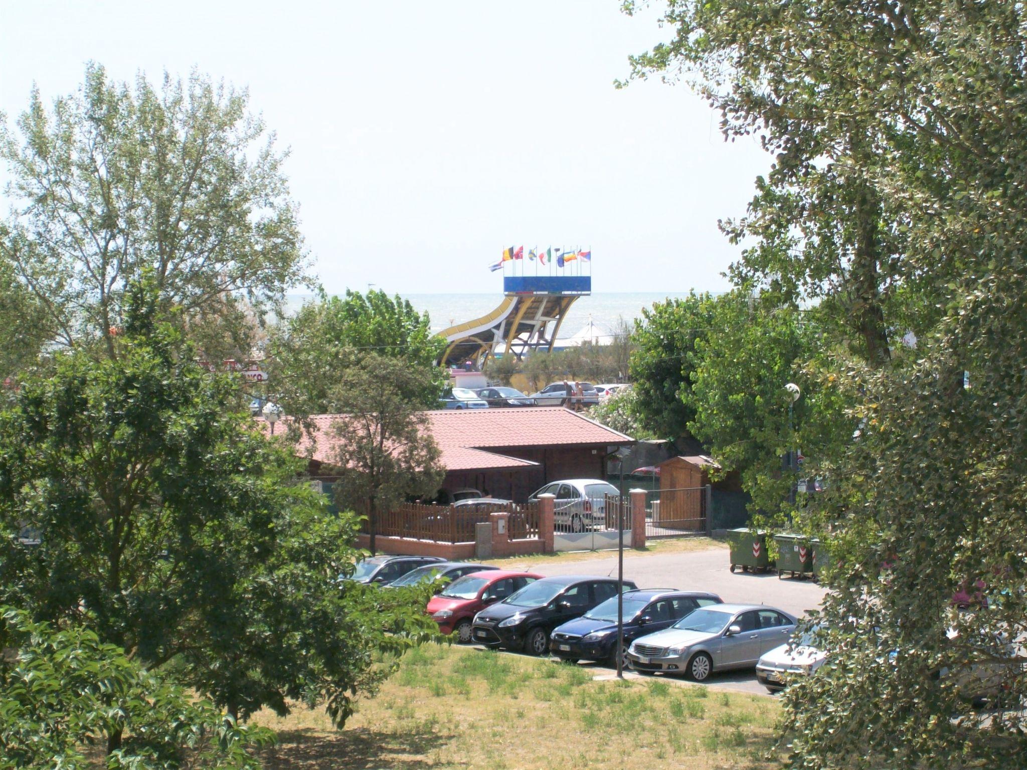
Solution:
M974 711L958 683L986 670L1002 701L1027 696L1006 647L1027 617L1024 12L671 0L673 39L634 60L683 72L728 137L775 153L727 228L758 239L733 274L819 301L821 383L858 426L801 516L833 560L832 657L788 695L793 767L1023 764L1019 707ZM987 608L956 613L977 581Z

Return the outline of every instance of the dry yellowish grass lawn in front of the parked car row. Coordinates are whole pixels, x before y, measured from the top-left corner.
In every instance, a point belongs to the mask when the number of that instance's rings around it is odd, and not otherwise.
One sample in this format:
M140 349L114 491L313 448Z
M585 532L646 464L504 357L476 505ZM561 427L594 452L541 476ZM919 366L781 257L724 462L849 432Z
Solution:
M271 769L770 768L778 706L658 678L593 681L584 667L428 645L404 658L346 728L322 711L256 722L278 733Z

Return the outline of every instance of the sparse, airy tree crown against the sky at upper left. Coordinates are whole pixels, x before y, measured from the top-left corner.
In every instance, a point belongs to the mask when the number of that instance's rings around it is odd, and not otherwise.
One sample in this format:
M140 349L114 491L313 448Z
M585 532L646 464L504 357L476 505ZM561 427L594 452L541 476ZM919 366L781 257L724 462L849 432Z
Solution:
M248 101L198 74L129 86L89 64L78 92L47 111L34 91L17 130L0 125L15 204L0 258L55 341L113 353L145 270L186 325L220 318L222 338L245 337L242 303L263 315L303 280L286 156Z

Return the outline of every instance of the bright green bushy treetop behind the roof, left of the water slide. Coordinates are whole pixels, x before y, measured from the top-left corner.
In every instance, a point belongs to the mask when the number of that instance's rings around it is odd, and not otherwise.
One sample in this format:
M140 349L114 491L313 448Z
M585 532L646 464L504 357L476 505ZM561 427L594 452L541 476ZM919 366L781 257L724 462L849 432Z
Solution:
M398 295L321 294L274 330L267 364L272 387L289 415L345 412L344 393L337 387L340 374L374 365L366 359L389 357L429 372L423 388L409 395L413 405L436 409L447 379L435 367L445 340L431 333L430 324L427 313L418 313Z

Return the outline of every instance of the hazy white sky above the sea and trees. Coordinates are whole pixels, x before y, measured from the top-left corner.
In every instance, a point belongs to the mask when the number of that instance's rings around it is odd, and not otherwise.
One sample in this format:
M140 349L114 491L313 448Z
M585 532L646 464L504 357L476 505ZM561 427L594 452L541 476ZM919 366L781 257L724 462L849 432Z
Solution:
M722 290L717 220L769 159L686 86L614 89L665 35L618 0L0 0L0 112L87 60L248 86L333 293L499 292L510 244L591 246L596 292Z

